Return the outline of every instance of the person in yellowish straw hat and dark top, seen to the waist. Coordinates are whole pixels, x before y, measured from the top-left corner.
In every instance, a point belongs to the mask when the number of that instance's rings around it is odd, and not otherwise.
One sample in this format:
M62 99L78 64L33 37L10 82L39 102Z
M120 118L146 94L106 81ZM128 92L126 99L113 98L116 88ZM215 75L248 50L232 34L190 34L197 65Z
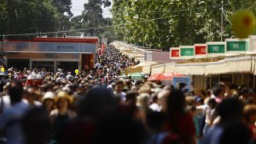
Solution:
M58 143L63 137L63 129L66 123L76 117L74 111L69 110L73 98L65 91L59 91L55 97L57 108L50 113L52 125L50 142Z

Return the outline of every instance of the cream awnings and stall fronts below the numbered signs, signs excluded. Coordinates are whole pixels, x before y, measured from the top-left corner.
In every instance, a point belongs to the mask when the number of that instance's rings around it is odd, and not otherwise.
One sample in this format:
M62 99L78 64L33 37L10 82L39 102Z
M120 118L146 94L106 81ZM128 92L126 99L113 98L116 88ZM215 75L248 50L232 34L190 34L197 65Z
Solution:
M236 83L255 87L256 57L249 55L197 63L157 64L154 61L147 61L126 69L126 73L186 75L191 77L191 83L196 89L206 89L220 81L227 85Z

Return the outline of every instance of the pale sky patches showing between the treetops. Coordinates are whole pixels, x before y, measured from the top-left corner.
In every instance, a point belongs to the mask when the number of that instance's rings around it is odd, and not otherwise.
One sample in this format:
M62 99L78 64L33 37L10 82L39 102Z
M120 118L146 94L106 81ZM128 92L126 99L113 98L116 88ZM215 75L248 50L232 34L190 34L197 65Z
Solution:
M71 0L72 1L72 8L71 8L71 12L73 12L74 16L80 15L82 14L83 10L84 10L84 3L87 3L88 0ZM103 9L103 17L104 18L111 18L111 6L104 8L104 6L102 6Z

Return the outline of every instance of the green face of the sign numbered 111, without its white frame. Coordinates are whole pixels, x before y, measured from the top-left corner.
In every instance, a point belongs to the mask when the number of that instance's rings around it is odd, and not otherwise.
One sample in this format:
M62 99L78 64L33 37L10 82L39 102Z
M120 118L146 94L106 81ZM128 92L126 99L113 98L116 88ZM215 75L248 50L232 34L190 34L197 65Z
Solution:
M227 51L247 51L247 49L245 41L227 42Z

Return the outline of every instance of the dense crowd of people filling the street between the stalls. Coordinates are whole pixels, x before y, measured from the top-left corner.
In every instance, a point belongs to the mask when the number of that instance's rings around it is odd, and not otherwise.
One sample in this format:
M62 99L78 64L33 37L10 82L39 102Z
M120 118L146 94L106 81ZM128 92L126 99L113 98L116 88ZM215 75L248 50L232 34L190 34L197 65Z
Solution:
M0 143L254 143L256 91L211 90L122 77L132 59L109 46L91 70L8 69L0 87ZM42 85L26 85L28 78Z

